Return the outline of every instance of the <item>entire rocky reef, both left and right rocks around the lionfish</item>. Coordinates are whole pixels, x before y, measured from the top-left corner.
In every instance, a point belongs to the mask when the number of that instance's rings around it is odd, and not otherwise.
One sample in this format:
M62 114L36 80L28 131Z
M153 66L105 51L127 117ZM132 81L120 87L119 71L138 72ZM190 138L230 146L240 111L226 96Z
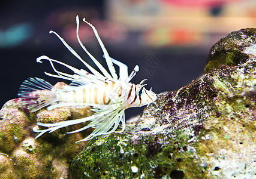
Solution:
M122 134L89 143L75 142L90 130L66 134L79 125L36 140L32 130L92 115L89 108L28 113L20 98L8 101L0 110L0 178L254 178L255 76L256 29L231 32L213 45L202 76L158 94Z

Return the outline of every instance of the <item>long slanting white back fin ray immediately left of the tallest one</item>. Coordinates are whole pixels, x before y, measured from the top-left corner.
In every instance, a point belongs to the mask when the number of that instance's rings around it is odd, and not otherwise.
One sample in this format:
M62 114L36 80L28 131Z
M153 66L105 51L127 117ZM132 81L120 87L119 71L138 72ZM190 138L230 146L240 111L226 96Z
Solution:
M83 64L85 64L86 67L88 67L88 69L98 78L104 78L103 75L101 75L101 73L99 73L97 70L95 70L93 67L91 67L88 63L86 63L80 56L79 54L76 53L76 51L73 50L73 48L70 47L70 45L67 44L67 42L64 41L63 38L61 38L61 36L58 35L58 33L50 30L49 33L54 33L62 42L62 44L65 45L65 47L67 47L67 49L75 56L77 57L80 61L82 61Z

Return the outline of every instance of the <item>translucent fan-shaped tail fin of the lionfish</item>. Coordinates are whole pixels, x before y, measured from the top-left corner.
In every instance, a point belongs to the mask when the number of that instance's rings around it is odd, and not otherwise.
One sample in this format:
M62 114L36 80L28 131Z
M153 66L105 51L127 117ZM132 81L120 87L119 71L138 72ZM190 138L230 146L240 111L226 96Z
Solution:
M56 91L52 88L53 86L43 79L28 78L20 85L18 96L23 99L25 109L36 112L57 101Z

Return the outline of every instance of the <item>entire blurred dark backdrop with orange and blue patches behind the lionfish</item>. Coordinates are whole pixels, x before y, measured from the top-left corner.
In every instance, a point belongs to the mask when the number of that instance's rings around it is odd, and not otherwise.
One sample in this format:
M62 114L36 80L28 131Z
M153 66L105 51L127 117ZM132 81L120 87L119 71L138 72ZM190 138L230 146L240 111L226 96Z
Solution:
M43 78L53 85L64 81L44 75L53 70L47 61L36 63L40 55L85 69L49 30L59 33L94 66L76 39L77 14L80 39L89 52L106 66L83 17L96 27L111 57L127 64L129 72L140 66L133 82L147 78L147 89L152 87L156 93L189 84L203 73L209 50L220 38L256 27L255 0L10 0L1 3L0 14L0 106L17 97L26 78Z

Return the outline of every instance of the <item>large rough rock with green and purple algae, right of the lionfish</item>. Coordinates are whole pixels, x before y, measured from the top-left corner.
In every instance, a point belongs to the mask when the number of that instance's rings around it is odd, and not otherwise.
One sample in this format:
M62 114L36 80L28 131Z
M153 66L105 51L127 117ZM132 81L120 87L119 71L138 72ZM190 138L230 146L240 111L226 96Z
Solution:
M124 133L92 139L71 163L72 177L255 178L255 35L230 33L213 46L207 73L159 94ZM240 55L229 58L223 44Z

